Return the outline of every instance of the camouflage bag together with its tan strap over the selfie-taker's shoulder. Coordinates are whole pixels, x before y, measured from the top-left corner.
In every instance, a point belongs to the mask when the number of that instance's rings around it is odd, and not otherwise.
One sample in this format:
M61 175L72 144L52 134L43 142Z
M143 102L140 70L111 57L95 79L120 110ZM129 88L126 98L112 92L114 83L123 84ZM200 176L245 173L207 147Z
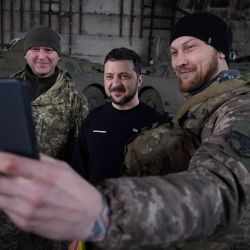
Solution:
M124 174L163 175L186 170L200 144L200 130L205 121L225 101L248 92L246 83L241 79L216 81L185 102L173 123L144 129L126 146ZM187 119L188 116L192 119ZM185 129L180 126L183 121L186 122Z

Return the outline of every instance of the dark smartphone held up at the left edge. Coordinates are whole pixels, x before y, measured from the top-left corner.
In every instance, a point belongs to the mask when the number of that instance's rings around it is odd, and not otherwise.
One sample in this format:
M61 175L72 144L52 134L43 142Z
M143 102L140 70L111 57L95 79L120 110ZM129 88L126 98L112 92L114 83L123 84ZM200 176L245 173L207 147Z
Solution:
M0 151L39 159L31 100L24 81L0 78Z

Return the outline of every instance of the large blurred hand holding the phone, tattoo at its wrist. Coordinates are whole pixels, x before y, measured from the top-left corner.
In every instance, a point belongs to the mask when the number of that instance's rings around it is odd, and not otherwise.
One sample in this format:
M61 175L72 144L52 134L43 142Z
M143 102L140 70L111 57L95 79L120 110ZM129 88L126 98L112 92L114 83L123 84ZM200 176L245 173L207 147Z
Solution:
M101 240L102 195L66 163L0 153L0 209L21 229L60 240Z

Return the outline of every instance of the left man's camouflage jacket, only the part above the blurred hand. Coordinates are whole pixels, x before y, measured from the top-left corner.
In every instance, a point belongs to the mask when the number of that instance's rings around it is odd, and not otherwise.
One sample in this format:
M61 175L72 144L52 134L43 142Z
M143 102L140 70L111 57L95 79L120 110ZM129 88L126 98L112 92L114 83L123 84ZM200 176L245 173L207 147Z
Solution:
M24 70L12 77L25 80ZM81 120L89 111L85 96L59 68L56 82L32 102L32 111L40 151L63 159L67 143L77 137Z

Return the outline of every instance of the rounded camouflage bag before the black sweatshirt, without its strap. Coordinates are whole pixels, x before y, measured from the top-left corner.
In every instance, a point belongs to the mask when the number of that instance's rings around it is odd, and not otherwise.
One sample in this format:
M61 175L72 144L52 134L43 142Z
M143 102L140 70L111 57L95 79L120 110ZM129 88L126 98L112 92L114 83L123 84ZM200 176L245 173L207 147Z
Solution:
M125 149L125 176L165 175L186 170L199 139L172 123L145 128Z

